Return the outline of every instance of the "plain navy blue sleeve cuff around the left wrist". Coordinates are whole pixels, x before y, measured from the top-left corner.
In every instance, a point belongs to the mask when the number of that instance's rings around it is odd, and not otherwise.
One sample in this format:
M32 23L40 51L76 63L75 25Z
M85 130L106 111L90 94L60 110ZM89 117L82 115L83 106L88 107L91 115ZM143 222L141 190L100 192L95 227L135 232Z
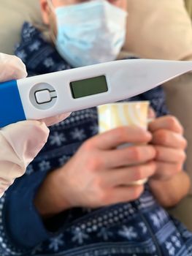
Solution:
M45 228L33 203L45 175L44 172L37 172L18 178L4 197L5 236L15 248L31 249L53 236Z

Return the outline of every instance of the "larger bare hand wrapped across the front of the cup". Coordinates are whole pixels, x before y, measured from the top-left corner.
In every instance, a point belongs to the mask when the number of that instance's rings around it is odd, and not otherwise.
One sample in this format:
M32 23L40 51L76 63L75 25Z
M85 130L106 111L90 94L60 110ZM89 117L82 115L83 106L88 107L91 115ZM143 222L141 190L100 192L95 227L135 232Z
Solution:
M64 167L47 177L35 200L39 212L45 214L49 206L47 211L54 214L137 199L144 187L128 184L153 176L155 149L145 145L150 140L150 133L137 127L112 129L87 140ZM123 143L139 145L117 149Z

